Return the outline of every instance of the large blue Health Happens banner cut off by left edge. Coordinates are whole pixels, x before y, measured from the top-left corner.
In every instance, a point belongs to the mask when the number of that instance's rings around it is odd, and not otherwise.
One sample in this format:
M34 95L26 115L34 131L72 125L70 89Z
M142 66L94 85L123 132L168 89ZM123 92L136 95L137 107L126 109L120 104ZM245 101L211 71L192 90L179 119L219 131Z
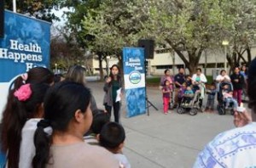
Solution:
M49 68L49 45L49 22L4 11L4 36L0 37L0 114L9 85L17 76L32 67Z

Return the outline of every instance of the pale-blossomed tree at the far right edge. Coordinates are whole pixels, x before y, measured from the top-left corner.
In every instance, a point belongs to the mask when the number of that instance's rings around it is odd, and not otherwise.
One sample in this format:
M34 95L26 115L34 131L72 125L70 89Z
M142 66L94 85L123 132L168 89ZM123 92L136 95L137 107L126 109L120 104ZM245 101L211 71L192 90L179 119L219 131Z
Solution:
M230 20L230 27L225 30L224 38L230 41L230 54L227 59L230 70L241 63L250 64L251 47L256 42L256 2L224 1L222 3L225 20Z

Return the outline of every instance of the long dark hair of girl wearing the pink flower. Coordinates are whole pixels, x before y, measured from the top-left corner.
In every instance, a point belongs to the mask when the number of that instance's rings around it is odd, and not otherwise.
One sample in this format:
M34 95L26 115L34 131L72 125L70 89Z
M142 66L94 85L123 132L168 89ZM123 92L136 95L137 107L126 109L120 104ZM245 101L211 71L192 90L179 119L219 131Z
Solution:
M49 85L39 83L26 85L32 91L30 97L24 101L15 96L9 97L3 110L1 143L3 152L7 152L8 167L18 167L21 130L27 119L38 115L38 109L44 101L44 94L49 88Z

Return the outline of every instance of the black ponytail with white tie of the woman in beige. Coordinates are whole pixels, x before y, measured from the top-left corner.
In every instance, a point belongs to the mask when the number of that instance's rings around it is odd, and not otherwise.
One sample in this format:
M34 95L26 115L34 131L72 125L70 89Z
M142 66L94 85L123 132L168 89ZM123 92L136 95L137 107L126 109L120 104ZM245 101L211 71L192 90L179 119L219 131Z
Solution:
M38 122L38 128L34 135L34 144L36 148L36 154L32 160L32 166L37 168L44 168L49 161L49 148L51 144L51 129L47 132L49 128L48 120L40 120Z

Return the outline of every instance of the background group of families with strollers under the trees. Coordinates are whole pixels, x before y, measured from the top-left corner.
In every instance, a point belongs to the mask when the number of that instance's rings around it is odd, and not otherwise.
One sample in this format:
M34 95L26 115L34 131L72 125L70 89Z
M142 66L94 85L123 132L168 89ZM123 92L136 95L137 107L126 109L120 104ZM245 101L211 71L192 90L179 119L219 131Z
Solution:
M207 84L207 77L201 72L201 68L197 68L193 76L185 76L183 68L179 68L175 76L172 76L168 69L164 73L165 75L160 78L164 114L168 113L168 109L178 108L182 100L183 104L190 104L195 95L199 95L199 106L203 112L202 105L206 94L207 104L204 105L204 111L214 111L216 95L218 95L218 103L219 98L223 98L225 109L230 105L236 109L241 105L242 94L246 94L247 67L245 65L241 68L236 67L230 76L225 70L221 70L210 84Z

